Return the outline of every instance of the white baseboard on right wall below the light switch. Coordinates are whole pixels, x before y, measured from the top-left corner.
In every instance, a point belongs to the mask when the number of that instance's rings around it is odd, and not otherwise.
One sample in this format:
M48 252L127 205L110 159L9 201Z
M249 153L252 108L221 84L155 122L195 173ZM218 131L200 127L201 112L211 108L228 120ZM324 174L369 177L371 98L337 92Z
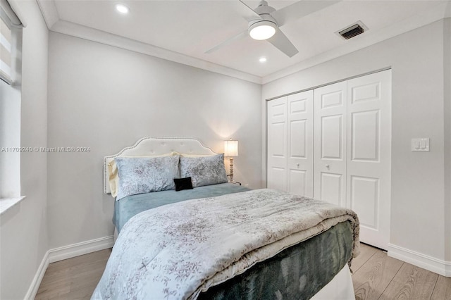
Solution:
M405 261L419 268L424 268L442 276L451 277L451 261L442 261L438 258L421 254L394 244L388 244L388 256Z

